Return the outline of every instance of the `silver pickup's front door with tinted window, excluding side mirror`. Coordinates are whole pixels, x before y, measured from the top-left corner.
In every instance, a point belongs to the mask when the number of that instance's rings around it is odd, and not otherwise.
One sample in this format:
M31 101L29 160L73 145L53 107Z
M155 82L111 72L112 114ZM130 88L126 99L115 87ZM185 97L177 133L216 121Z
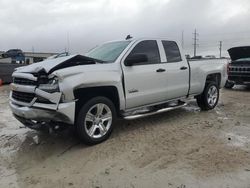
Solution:
M145 54L146 62L126 66L126 58ZM126 108L135 108L161 102L166 98L166 70L162 68L156 40L137 42L122 62Z

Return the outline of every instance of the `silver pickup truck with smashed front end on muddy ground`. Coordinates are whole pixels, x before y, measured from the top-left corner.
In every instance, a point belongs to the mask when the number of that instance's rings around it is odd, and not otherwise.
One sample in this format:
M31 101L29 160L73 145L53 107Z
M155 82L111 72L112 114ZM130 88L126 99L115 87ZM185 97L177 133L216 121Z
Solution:
M74 125L87 144L106 140L116 118L135 119L184 106L195 97L213 109L227 80L226 60L188 62L176 42L107 42L71 55L18 68L10 107L25 126Z

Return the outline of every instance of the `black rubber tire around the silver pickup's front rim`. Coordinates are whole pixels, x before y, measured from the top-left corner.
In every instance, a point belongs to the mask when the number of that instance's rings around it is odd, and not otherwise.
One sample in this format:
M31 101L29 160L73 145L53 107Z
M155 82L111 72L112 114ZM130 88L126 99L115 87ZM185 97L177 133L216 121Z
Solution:
M93 138L87 132L87 127L89 125L87 125L87 122L86 122L86 115L89 112L89 110L91 110L91 108L93 108L95 105L98 105L98 104L106 105L105 108L110 109L110 111L112 113L111 114L112 119L111 119L111 125L109 123L109 128L108 128L107 132L99 138ZM95 107L95 108L96 108L96 114L97 114L98 109L97 109L97 107ZM95 110L95 109L93 108L93 110ZM95 115L95 118L97 118L97 116L98 115ZM99 119L101 119L101 118L99 117ZM99 120L95 120L95 121L99 121ZM106 97L94 97L94 98L88 100L81 107L80 111L78 112L78 117L77 117L77 121L76 121L77 134L78 134L79 138L87 145L99 144L99 143L101 143L109 138L109 136L111 135L111 133L113 131L115 121L116 121L116 110L115 110L115 106L114 106L113 102ZM89 123L91 124L91 122L89 122ZM92 126L98 126L98 125L94 125L94 124L96 124L96 122L95 123L92 122L92 123L93 123ZM104 125L104 123L102 123L102 124ZM92 127L92 126L90 125L90 127ZM104 130L104 129L102 129L102 130ZM96 132L98 133L98 128L95 129L93 134L95 134ZM100 128L99 128L99 134L101 134ZM93 136L95 136L95 135L93 135Z

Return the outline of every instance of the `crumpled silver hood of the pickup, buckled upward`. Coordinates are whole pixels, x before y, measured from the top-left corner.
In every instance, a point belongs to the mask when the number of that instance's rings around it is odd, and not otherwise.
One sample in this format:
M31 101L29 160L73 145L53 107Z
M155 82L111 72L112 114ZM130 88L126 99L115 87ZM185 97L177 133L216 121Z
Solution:
M44 70L46 73L50 74L58 69L63 69L67 67L77 66L77 65L89 65L95 64L99 60L89 58L82 55L70 55L65 57L59 57L55 59L46 59L39 63L33 63L31 65L18 68L15 72L22 73L37 73Z

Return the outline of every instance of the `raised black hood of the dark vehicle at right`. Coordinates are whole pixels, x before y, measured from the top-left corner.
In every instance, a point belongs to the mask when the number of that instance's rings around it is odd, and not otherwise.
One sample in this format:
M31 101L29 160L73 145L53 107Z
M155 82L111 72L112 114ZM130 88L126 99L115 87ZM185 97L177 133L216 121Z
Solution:
M230 48L228 50L228 53L232 61L241 58L250 58L250 46L240 46L240 47Z

